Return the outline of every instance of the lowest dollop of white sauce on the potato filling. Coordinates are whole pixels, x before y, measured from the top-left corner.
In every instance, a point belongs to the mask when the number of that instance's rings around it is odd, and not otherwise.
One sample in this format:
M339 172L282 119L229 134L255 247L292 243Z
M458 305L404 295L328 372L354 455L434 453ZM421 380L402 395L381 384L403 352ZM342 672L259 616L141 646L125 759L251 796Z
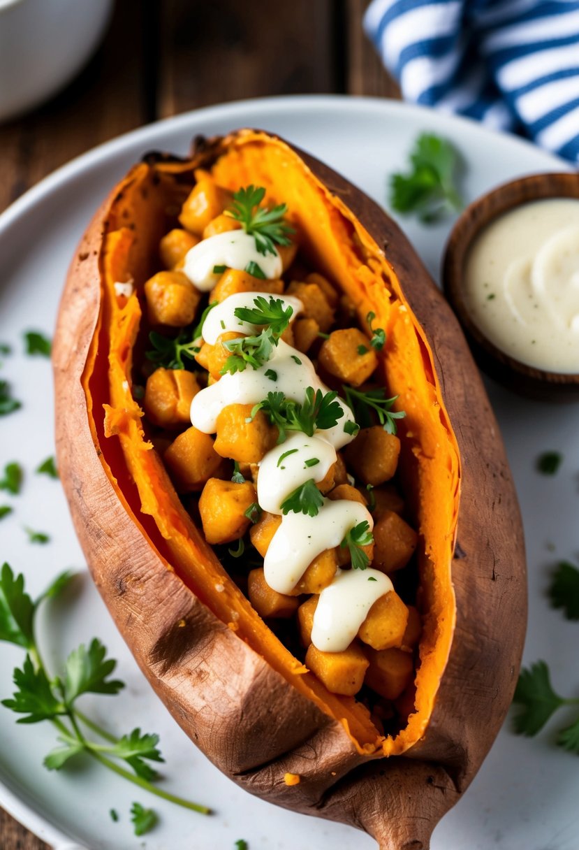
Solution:
M371 567L338 570L331 585L320 593L313 615L313 645L323 652L343 652L356 637L374 602L393 589L388 576Z

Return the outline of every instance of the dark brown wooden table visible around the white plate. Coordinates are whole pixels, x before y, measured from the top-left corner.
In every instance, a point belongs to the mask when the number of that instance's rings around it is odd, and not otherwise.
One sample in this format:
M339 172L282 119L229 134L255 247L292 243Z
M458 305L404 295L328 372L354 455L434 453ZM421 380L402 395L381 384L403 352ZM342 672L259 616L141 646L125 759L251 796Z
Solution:
M117 0L102 47L42 108L0 127L0 212L134 127L274 94L399 97L362 31L368 0ZM0 809L1 850L48 850Z

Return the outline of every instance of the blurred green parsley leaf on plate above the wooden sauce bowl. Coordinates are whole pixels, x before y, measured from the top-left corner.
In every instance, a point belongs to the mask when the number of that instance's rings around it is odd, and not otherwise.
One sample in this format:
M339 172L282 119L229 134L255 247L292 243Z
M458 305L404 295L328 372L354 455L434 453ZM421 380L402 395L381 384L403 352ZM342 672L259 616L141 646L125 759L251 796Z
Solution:
M412 170L391 175L390 203L403 214L416 213L424 224L457 210L462 199L456 186L460 159L446 139L422 133L410 153Z

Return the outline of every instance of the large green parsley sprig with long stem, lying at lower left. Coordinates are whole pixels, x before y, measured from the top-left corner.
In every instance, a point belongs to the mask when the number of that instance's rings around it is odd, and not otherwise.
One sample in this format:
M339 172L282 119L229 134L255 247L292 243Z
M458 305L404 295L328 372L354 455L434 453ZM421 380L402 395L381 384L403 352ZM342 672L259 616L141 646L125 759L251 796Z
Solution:
M42 601L57 596L71 578L70 572L62 573L33 601L25 591L24 576L15 576L8 564L3 564L0 570L0 641L13 643L26 651L24 664L14 669L14 694L2 700L3 706L23 715L17 723L49 720L57 728L59 745L43 762L48 770L59 770L72 757L85 753L151 794L196 812L210 813L205 806L183 800L151 784L157 774L148 762L163 761L157 748L158 735L143 734L140 728L134 728L131 733L115 738L77 708L76 700L82 694L118 694L124 688L119 679L111 678L116 661L106 657L106 649L98 638L71 652L58 677L48 674L37 644L35 618ZM85 728L105 743L89 739Z

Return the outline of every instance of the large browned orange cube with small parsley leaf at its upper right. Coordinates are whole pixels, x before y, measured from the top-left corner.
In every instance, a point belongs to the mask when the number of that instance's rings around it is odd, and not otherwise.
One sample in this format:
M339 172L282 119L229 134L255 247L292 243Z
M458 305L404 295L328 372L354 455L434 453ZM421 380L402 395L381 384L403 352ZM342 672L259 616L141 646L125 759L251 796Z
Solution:
M359 387L368 381L378 365L378 357L362 331L357 327L346 327L332 331L329 339L324 339L319 363L330 375L350 383L352 387Z

